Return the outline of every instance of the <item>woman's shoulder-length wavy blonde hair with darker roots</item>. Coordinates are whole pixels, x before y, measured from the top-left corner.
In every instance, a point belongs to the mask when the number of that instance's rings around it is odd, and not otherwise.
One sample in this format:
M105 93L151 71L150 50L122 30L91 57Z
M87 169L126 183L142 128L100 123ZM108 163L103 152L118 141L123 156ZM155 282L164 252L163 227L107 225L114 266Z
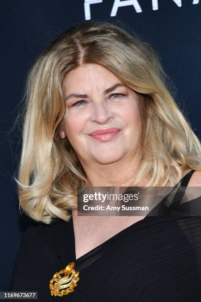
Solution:
M156 51L117 24L87 22L61 33L36 59L23 98L19 207L35 221L68 221L77 187L88 181L67 138L59 135L66 105L62 83L86 63L100 64L139 96L142 161L133 181L177 184L185 169L201 170L201 143L175 103ZM151 134L151 135L150 135Z

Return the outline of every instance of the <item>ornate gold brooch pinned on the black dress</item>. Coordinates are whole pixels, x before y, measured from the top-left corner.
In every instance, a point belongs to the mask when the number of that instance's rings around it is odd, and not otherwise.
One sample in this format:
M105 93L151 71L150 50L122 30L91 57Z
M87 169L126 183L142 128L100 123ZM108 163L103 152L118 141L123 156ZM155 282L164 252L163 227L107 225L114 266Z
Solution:
M65 269L53 275L49 285L52 296L63 297L74 292L73 288L77 286L76 283L79 280L79 271L75 271L74 267L74 262L70 262ZM61 274L64 274L64 276L61 276Z

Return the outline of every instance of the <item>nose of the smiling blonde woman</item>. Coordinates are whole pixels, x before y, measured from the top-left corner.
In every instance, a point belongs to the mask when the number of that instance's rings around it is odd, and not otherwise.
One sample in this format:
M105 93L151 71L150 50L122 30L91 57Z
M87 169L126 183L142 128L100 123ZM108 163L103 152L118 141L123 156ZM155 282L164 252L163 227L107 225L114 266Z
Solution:
M109 122L113 116L114 113L112 113L111 110L109 110L108 105L105 104L105 101L93 103L92 113L90 116L90 120L92 122L104 124Z

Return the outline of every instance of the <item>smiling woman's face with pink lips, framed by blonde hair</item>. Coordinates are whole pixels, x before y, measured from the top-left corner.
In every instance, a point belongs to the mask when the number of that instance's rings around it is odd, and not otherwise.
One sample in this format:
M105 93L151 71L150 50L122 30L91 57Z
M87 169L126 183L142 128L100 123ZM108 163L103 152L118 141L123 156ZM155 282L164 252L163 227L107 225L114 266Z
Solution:
M98 64L70 71L62 89L66 113L60 136L67 137L83 166L133 158L141 132L134 91Z

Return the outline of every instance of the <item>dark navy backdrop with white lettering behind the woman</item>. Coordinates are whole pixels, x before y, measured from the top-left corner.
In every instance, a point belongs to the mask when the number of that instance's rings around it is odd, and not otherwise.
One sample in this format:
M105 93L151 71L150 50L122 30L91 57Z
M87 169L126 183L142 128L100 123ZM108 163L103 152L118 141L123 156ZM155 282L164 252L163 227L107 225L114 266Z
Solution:
M0 290L8 288L17 249L29 219L18 212L12 175L19 133L8 133L34 58L61 31L87 20L119 21L159 52L176 87L176 101L201 138L201 1L2 0Z

